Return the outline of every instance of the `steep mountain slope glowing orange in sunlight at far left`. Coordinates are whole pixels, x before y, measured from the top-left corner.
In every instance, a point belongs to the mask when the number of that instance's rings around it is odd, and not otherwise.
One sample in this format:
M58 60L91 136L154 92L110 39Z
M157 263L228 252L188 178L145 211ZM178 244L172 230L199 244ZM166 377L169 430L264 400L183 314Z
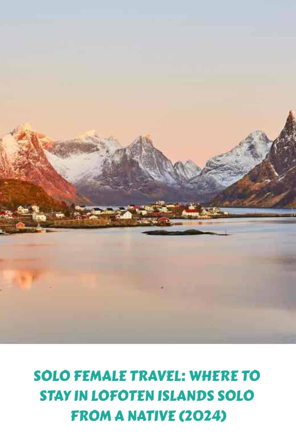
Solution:
M0 178L29 181L54 198L76 201L75 186L57 173L44 154L51 144L51 139L33 131L29 124L4 135L0 139Z

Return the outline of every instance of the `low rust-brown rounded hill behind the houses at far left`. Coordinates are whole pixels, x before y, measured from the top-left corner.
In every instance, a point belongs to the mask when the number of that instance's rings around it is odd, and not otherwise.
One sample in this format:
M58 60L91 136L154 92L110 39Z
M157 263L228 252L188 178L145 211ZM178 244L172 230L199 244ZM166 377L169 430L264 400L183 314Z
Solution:
M63 210L61 202L50 197L41 186L19 179L0 179L0 205L14 210L19 205L35 204L41 211Z

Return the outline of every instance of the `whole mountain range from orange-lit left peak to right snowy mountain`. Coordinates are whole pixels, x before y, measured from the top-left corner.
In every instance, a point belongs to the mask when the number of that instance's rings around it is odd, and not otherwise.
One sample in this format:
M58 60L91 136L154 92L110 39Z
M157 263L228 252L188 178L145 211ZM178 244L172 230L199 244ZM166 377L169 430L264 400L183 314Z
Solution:
M32 182L66 202L204 202L260 164L271 144L264 132L254 131L201 169L191 160L173 163L150 135L123 147L117 139L99 137L93 130L57 141L24 124L0 139L0 179Z

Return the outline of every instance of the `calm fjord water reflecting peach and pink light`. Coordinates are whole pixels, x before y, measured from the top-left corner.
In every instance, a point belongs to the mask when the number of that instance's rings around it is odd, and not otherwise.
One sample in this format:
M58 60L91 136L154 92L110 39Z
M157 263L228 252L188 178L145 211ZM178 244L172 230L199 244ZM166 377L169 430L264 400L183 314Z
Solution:
M0 237L0 342L295 343L296 219L192 223Z

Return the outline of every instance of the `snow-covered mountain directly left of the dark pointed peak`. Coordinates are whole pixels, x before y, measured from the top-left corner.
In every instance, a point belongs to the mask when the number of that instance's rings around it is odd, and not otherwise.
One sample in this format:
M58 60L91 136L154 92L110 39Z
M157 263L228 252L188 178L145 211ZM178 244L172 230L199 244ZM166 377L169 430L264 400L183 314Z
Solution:
M189 181L189 186L213 197L261 163L271 145L263 131L253 131L232 150L209 159L201 173Z

